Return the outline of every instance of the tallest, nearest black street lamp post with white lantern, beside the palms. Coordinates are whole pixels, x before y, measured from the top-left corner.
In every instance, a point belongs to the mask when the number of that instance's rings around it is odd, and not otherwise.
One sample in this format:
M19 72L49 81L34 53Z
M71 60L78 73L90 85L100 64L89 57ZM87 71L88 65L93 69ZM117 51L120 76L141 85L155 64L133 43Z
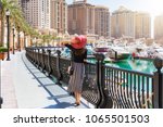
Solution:
M8 25L8 58L7 58L7 61L10 61L10 25L9 25L10 11L9 10L7 10L5 16L7 16L7 25Z

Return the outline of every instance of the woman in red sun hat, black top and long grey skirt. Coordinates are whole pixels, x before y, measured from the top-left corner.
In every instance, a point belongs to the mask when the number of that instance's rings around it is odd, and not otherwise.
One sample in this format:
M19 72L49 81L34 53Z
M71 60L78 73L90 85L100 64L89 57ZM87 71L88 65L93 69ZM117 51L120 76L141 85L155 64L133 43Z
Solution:
M72 50L73 75L70 77L68 91L75 94L75 105L80 104L80 96L83 81L85 77L84 61L87 59L87 49L85 48L87 38L85 36L76 36L72 38L71 45L65 45Z

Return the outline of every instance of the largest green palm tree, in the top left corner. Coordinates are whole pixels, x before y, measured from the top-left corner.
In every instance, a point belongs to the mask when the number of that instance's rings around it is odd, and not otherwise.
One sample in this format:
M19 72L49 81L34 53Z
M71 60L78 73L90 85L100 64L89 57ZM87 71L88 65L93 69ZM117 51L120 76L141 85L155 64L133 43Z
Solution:
M16 29L20 31L24 31L26 35L38 35L36 34L36 30L32 28L27 22L25 21L23 16L23 12L21 7L18 5L17 0L1 0L2 9L1 9L1 42L2 45L3 39L4 39L4 21L5 21L5 11L9 10L11 15L10 15L10 23L12 23Z

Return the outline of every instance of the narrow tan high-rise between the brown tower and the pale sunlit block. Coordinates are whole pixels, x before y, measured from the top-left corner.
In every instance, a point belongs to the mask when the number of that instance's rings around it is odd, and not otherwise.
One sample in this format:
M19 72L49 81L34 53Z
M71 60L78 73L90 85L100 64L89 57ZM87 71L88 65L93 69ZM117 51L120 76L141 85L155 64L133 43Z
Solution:
M110 37L110 12L109 8L95 8L95 34L103 37Z

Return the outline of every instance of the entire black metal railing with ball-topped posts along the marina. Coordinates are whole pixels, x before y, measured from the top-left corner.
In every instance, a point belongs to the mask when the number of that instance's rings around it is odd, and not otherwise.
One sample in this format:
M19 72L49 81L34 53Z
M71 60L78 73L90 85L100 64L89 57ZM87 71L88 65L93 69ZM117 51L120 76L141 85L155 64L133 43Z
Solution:
M40 49L40 48L39 48ZM59 48L58 48L59 49ZM62 50L62 49L60 49ZM70 59L61 58L54 48L26 48L26 56L57 84L68 84ZM53 51L53 53L51 53ZM96 107L158 109L163 107L163 61L154 60L156 72L146 74L105 66L104 56L96 54L97 62L85 63L83 97Z

